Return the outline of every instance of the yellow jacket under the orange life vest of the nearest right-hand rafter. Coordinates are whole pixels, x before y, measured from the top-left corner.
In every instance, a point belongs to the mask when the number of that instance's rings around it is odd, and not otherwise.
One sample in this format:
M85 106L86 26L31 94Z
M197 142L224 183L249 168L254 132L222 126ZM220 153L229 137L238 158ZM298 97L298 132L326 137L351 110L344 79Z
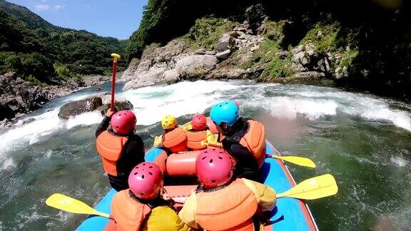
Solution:
M262 211L271 211L275 207L275 202L277 200L275 190L270 188L267 185L263 185L261 183L255 182L253 180L247 180L242 178L243 183L245 186L250 188L250 190L254 193L255 199L258 202L260 210ZM183 209L178 213L178 216L185 222L188 226L193 228L200 228L196 221L196 210L197 210L197 199L196 193L192 193L190 197L187 198L186 202L184 202ZM264 227L261 225L260 230L263 230Z

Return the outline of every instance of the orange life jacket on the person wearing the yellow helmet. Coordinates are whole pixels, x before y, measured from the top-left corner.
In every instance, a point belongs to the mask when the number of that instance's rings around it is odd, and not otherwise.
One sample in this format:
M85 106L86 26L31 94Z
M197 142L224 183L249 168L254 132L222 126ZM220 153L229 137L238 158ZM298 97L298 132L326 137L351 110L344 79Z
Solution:
M187 133L181 128L177 127L163 135L163 147L171 150L171 153L188 151Z

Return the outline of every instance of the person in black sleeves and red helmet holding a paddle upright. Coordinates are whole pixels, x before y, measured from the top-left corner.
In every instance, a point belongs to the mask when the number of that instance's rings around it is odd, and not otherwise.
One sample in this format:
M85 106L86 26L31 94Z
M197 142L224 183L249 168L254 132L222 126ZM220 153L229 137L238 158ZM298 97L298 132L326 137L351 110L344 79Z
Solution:
M128 175L134 166L144 161L144 143L134 133L136 116L132 111L113 113L108 109L96 130L96 148L113 189L128 188ZM111 128L108 128L108 125Z

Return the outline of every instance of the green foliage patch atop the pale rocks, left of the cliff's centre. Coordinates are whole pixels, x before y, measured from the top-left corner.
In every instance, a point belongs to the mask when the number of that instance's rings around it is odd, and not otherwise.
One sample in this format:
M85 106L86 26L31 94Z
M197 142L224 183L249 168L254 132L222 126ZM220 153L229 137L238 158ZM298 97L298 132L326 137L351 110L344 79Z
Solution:
M188 39L192 48L213 48L224 33L234 29L236 23L228 19L206 16L197 19L183 38Z

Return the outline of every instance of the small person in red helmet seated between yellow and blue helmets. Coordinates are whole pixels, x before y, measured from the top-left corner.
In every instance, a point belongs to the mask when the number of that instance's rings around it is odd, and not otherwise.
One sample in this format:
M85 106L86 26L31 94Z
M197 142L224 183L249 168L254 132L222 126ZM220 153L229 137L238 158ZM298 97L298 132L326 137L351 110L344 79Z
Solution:
M217 143L217 138L207 127L204 115L194 115L187 127L187 147L190 150L203 150L207 148L207 143Z

